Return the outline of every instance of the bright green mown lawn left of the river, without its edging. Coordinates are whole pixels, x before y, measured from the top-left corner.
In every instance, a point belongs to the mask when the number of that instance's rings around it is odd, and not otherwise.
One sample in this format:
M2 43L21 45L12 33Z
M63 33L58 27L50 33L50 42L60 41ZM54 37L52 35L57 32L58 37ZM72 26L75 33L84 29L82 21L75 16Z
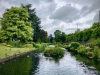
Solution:
M31 50L35 50L34 47L25 47L25 48L11 48L11 47L7 47L3 44L0 44L0 59L1 58L5 58L6 54L8 56L12 56L14 54L19 54L19 53L23 53L23 52L28 52Z

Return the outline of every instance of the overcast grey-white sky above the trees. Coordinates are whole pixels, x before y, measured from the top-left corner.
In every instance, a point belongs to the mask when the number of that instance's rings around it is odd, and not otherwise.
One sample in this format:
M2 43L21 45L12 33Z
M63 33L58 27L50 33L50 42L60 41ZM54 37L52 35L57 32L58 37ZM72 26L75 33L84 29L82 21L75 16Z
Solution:
M66 34L89 28L99 20L100 0L0 0L0 17L5 9L32 4L48 34L61 30Z

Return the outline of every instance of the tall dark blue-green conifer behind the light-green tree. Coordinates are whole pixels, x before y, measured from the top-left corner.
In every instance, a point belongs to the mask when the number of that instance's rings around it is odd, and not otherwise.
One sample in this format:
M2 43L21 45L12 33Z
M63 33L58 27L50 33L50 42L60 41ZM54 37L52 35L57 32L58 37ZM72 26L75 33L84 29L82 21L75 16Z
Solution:
M21 4L21 7L27 8L28 10L28 14L29 14L28 20L31 21L32 28L34 29L33 41L37 42L38 39L40 39L40 34L41 34L40 18L36 15L35 8L32 9L31 4L27 4L27 5Z

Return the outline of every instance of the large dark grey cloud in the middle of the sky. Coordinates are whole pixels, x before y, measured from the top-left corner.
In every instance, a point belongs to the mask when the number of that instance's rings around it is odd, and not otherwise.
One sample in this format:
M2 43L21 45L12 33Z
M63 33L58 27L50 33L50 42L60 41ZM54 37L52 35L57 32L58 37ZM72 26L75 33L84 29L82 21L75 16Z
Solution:
M72 22L75 19L79 19L78 9L72 7L71 5L62 6L57 9L51 16L51 19L62 20L65 22Z

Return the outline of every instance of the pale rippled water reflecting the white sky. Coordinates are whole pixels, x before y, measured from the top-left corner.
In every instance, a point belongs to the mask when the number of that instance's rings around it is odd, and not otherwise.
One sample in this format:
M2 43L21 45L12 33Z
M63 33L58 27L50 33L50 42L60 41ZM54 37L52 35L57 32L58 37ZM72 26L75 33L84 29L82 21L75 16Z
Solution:
M70 53L65 53L59 62L47 60L42 56L36 72L35 75L97 75L96 71L89 70L86 65L84 67L80 65Z

